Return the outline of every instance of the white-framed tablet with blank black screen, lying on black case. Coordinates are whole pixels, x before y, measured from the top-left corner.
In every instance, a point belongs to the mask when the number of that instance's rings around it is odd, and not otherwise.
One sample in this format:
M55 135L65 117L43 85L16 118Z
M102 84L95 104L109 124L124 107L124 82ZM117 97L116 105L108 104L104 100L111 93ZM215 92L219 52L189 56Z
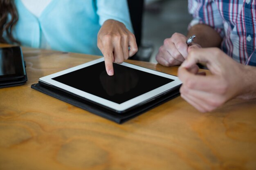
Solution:
M177 76L123 62L106 72L104 58L39 79L52 87L82 97L104 108L125 113L180 86Z

